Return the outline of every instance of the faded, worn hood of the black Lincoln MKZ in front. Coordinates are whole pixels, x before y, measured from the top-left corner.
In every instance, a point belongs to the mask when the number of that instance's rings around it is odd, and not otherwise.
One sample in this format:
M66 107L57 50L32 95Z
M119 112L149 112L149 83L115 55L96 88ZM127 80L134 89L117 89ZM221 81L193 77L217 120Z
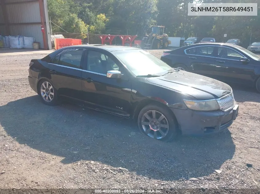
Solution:
M232 91L231 87L223 82L182 70L146 80L188 94L197 100L220 98Z

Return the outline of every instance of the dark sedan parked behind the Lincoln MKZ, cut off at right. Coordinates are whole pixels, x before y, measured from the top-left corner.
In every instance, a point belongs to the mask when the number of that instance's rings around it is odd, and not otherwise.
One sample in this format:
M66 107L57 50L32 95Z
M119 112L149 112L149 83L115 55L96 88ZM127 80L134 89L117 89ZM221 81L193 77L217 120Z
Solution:
M238 45L193 44L165 51L161 59L171 67L255 87L260 92L260 56Z

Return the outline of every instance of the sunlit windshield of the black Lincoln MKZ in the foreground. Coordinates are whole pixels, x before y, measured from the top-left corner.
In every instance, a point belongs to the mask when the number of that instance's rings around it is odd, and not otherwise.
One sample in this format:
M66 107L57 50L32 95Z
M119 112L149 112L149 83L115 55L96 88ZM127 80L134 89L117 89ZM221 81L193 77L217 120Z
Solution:
M113 54L135 75L163 75L175 71L149 52L143 50L114 51Z

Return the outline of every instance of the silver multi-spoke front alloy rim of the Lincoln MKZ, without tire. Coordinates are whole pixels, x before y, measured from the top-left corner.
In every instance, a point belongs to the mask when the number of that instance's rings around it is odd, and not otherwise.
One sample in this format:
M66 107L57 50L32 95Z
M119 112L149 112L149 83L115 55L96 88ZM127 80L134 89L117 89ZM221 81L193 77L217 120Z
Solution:
M169 132L169 123L166 117L155 110L145 112L141 124L146 135L154 139L162 139Z

